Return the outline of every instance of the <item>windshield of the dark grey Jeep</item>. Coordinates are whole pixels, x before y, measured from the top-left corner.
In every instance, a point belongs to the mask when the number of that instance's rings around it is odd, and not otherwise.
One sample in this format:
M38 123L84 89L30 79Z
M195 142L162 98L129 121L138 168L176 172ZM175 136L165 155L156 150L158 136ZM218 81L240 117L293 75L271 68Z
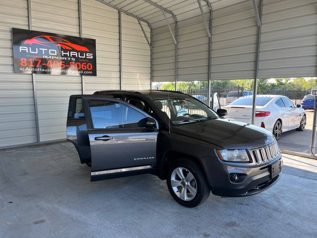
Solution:
M154 103L171 119L173 124L205 121L218 118L216 112L191 97L161 98Z

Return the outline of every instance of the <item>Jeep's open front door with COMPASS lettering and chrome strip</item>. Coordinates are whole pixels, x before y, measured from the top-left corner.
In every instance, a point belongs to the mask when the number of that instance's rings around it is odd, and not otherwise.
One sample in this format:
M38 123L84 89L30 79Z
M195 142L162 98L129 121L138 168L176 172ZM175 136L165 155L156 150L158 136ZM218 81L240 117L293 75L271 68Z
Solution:
M132 104L83 95L91 150L91 181L154 173L158 122Z

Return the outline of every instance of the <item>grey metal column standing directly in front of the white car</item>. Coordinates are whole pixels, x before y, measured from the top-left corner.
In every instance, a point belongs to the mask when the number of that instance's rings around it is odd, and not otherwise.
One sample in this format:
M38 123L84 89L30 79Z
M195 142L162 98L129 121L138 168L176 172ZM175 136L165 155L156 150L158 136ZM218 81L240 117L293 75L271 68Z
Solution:
M260 1L260 17L258 19L259 13L256 7L255 0L252 0L255 15L258 23L258 32L257 32L257 47L256 47L256 65L254 70L254 86L253 86L253 104L252 104L252 120L251 123L255 123L256 116L256 95L257 95L257 84L258 84L258 73L259 73L259 59L260 59L260 45L261 45L261 31L262 31L262 9L263 9L263 0Z

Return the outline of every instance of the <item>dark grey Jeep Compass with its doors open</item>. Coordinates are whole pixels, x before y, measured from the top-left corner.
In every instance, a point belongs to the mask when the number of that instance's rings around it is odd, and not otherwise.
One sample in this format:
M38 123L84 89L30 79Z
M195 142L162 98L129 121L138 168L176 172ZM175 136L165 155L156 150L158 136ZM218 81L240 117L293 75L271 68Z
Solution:
M177 106L186 101L200 114L179 116ZM150 173L166 179L178 203L195 207L210 190L218 196L243 197L281 178L281 151L272 133L228 120L226 113L181 92L72 95L67 140L81 163L91 163L91 181Z

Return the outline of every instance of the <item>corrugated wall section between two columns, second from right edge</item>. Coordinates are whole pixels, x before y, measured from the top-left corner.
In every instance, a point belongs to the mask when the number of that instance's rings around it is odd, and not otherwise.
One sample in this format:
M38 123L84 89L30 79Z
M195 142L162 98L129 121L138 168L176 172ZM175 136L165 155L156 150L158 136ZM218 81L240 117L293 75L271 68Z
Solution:
M257 24L252 1L227 7L219 1L212 7L211 79L254 78Z

